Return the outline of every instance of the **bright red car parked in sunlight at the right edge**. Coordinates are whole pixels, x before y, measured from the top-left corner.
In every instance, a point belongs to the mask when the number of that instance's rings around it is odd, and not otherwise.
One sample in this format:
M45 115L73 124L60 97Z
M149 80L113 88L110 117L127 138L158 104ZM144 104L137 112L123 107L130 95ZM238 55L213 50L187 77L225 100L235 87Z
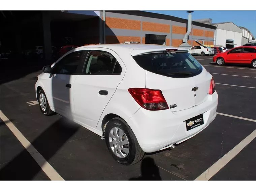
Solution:
M250 64L256 68L256 46L239 46L213 56L213 62L224 64Z

